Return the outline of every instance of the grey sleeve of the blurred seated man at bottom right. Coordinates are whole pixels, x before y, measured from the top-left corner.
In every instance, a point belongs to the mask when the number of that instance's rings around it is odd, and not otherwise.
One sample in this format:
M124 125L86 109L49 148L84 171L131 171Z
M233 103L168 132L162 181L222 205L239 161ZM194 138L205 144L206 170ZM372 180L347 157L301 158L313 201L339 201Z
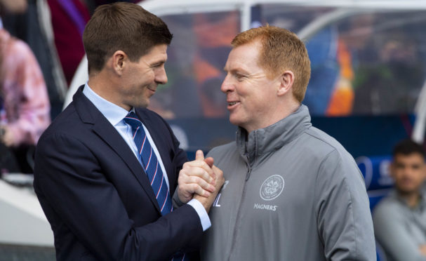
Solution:
M392 203L380 203L373 212L374 232L377 241L393 260L425 261L419 246L413 241L406 226L406 217Z

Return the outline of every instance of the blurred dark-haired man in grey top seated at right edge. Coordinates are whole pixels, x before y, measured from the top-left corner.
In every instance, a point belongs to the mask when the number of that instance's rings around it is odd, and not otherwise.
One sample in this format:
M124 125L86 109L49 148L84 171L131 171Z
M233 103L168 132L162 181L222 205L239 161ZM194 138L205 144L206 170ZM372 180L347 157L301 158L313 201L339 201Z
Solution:
M426 260L425 150L403 140L392 156L394 191L373 210L375 237L387 261Z

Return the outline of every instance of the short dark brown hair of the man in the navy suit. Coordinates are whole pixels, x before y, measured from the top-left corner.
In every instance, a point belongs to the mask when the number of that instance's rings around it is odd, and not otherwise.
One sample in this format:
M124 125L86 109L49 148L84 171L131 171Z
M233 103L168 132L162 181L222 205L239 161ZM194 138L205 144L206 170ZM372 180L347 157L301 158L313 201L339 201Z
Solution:
M166 23L141 6L126 2L96 8L83 33L88 72L100 71L115 51L124 51L132 61L159 44L171 43Z

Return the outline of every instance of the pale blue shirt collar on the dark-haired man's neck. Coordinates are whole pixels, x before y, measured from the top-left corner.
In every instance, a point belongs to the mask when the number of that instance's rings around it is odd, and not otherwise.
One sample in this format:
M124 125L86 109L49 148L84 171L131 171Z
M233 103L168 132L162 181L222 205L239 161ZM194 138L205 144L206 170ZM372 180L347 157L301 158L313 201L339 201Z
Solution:
M100 97L97 93L95 93L86 83L84 85L83 89L84 95L90 100L93 105L95 105L96 108L99 109L99 111L107 118L109 123L112 124L112 126L117 126L124 117L128 114L128 111L122 107L119 107L118 105L115 105L112 102L109 102L105 100L104 98ZM132 108L132 110L134 110Z

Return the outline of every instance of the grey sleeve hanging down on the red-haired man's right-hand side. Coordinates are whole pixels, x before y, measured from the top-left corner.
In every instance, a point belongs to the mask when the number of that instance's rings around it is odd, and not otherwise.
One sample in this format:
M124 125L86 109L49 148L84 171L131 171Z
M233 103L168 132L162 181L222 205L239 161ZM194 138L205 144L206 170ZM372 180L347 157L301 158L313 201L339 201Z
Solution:
M375 260L375 239L366 187L349 154L330 152L321 162L315 215L326 260Z

